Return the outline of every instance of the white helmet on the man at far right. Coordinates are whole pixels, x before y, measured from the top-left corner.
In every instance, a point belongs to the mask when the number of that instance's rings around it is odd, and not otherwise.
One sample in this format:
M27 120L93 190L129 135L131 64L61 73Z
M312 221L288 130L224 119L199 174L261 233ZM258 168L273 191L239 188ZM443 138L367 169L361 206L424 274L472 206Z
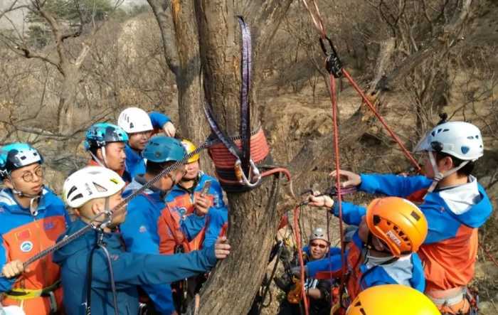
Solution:
M481 131L468 122L445 122L434 127L415 147L415 152L435 151L462 161L475 161L484 153Z

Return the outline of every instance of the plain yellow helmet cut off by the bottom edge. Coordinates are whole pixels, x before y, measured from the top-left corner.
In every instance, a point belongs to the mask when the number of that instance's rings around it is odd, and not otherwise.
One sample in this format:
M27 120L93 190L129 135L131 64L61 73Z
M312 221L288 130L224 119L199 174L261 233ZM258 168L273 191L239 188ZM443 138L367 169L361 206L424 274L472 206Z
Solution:
M349 305L346 315L440 315L428 297L401 284L369 287Z

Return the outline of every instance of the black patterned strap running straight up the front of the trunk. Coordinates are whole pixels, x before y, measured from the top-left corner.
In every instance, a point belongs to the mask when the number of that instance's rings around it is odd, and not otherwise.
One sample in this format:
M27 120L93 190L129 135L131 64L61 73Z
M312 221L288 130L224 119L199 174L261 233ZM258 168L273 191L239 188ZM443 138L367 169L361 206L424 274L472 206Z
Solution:
M242 16L238 16L240 32L242 33L242 58L240 60L240 75L242 76L242 86L240 87L240 137L242 144L242 156L240 156L241 166L249 176L250 171L250 83L252 78L252 43L249 26Z

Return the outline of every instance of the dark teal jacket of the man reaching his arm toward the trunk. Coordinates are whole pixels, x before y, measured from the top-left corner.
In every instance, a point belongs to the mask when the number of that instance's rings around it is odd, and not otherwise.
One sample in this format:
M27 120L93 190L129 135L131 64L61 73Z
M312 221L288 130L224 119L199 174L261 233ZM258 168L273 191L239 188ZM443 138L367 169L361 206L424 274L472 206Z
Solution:
M83 221L76 220L65 235L84 226ZM82 303L86 297L88 260L96 236L95 230L89 230L53 255L54 262L61 267L64 306L70 314L85 314ZM106 233L104 242L111 256L119 314L138 314L138 286L178 281L206 272L216 265L213 247L166 256L124 252L119 233ZM92 260L92 314L114 314L109 271L103 250L96 250Z

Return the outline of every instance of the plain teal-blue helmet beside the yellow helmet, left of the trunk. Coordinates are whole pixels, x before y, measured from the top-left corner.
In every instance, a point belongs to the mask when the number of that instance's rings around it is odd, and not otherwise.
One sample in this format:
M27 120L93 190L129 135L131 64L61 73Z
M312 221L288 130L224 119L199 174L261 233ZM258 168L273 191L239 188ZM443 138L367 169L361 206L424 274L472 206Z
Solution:
M178 139L159 135L152 137L147 142L142 156L147 161L164 163L184 159L186 151Z

